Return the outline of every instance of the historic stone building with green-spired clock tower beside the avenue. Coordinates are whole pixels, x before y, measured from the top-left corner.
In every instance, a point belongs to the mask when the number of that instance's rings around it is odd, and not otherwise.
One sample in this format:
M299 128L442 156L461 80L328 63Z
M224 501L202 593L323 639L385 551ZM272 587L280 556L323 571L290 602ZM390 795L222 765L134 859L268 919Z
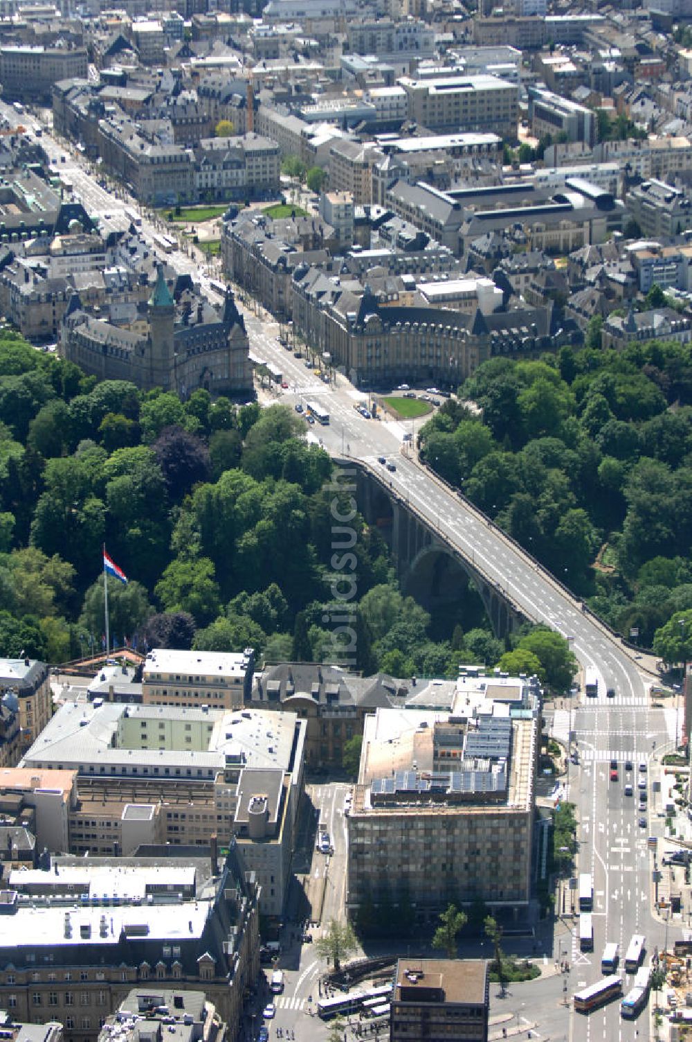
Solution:
M201 299L176 303L160 267L146 316L130 325L94 318L75 294L60 352L99 379L131 380L145 391L160 387L182 398L197 388L225 395L252 389L248 333L230 290L221 316Z

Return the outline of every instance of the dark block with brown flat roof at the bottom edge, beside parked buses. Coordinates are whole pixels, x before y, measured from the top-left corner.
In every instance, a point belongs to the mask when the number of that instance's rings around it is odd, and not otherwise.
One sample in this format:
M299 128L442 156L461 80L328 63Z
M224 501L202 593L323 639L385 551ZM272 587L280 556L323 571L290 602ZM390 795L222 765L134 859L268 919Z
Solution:
M481 959L400 959L390 1042L487 1042L488 963Z

